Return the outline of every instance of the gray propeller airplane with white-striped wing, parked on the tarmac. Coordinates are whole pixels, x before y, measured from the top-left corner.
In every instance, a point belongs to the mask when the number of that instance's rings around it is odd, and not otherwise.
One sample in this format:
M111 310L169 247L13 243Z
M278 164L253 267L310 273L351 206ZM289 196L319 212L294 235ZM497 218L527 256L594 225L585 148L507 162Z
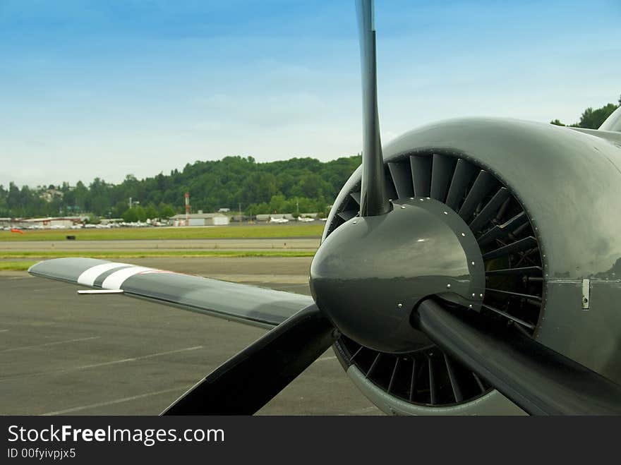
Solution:
M255 413L330 346L385 413L621 413L621 108L598 130L453 119L382 146L373 2L356 7L362 164L312 297L92 258L30 273L269 330L164 415Z

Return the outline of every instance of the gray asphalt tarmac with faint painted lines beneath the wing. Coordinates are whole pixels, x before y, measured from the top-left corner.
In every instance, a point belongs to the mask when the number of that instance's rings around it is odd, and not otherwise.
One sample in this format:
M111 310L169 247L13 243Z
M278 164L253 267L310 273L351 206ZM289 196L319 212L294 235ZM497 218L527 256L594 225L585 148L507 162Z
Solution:
M308 294L310 258L122 261ZM0 414L155 415L265 333L126 296L78 296L77 289L0 273ZM259 412L380 413L332 349Z

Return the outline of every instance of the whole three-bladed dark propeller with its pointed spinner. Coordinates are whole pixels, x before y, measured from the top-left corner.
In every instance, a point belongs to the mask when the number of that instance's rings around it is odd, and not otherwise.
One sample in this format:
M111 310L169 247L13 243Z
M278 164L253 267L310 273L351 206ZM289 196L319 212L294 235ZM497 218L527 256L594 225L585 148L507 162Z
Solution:
M435 343L528 413L621 413L621 386L531 337L490 327L492 323L478 312L486 291L480 247L484 236L477 242L473 231L507 203L507 191L500 188L490 200L494 207L481 210L470 221L481 197L494 186L490 174L476 174L464 162L454 166L451 159L438 155L427 179L419 176L424 170L414 168L429 160L414 156L413 191L406 176L402 180L397 176L402 182L395 187L407 196L387 200L373 1L357 0L356 6L363 89L360 215L342 216L344 223L322 241L313 258L310 289L315 304L217 368L163 414L255 413L313 363L339 332L390 354L408 354ZM398 168L389 165L394 173ZM453 210L467 179L475 175L462 207ZM454 186L461 187L447 190L450 176L456 179ZM460 179L463 182L457 182ZM509 228L505 226L489 234L500 234ZM517 224L511 222L509 229L514 227ZM511 247L532 246L531 239ZM487 252L487 258L490 253L500 254Z

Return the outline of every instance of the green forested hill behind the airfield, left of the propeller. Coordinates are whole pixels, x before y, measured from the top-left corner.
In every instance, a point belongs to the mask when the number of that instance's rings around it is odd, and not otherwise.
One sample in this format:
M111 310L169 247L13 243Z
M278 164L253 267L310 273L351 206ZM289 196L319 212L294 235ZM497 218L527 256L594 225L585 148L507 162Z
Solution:
M340 188L361 163L361 157L330 162L293 158L257 163L253 157L225 157L186 164L182 171L135 179L120 184L96 178L90 186L19 188L0 186L0 217L38 217L91 213L129 220L169 217L183 211L183 195L190 193L192 211L212 212L222 207L246 214L270 212L325 212ZM129 199L138 203L128 212ZM297 203L297 205L296 205Z

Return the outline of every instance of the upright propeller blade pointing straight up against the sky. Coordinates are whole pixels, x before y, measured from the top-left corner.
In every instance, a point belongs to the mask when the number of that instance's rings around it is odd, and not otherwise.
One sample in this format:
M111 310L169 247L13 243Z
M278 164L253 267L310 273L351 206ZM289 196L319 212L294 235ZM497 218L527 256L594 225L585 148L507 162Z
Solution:
M386 196L384 158L378 116L377 64L373 0L356 1L362 74L362 188L360 215L373 217L390 211Z

